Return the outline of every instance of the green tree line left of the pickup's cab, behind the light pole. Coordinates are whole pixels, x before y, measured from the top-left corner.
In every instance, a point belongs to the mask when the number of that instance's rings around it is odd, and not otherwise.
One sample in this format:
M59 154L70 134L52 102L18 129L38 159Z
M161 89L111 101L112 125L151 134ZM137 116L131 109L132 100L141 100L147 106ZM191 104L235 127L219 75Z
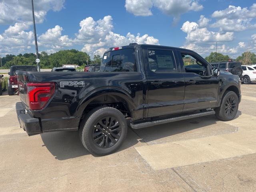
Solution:
M82 51L75 49L60 50L53 54L41 52L39 54L41 68L61 67L64 64L76 64L85 66L90 64L100 64L102 58L99 55L94 55L93 59ZM8 54L2 57L2 68L10 68L14 65L36 65L36 55L34 53L25 53L19 55Z

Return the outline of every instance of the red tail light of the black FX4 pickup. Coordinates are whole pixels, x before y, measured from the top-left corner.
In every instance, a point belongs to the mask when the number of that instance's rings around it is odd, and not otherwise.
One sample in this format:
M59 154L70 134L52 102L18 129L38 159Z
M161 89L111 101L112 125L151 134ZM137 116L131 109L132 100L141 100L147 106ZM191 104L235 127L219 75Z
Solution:
M54 82L27 83L28 106L31 110L41 110L55 92Z

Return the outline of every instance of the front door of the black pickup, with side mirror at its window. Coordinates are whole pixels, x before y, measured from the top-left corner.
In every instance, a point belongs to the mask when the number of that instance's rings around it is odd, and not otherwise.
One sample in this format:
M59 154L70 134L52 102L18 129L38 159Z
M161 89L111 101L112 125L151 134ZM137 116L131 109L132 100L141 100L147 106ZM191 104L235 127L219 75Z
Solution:
M212 76L210 65L198 54L178 51L185 77L183 112L214 107L218 99L219 77Z

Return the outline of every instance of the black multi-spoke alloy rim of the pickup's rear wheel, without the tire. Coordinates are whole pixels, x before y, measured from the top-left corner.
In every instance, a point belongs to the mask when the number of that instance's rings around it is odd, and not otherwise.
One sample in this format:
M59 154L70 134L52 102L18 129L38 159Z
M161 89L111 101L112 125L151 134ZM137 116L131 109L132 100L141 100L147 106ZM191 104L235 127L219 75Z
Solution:
M113 116L100 118L92 130L92 139L100 148L112 147L118 142L122 129L118 120Z

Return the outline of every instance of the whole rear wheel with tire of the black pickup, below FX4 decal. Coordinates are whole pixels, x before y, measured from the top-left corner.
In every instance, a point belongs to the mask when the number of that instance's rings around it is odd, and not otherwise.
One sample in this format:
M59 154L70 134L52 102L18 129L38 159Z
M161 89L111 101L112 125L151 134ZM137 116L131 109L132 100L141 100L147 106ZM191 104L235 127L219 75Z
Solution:
M124 142L127 123L119 110L99 107L86 115L79 131L82 144L89 152L107 155L116 151Z

